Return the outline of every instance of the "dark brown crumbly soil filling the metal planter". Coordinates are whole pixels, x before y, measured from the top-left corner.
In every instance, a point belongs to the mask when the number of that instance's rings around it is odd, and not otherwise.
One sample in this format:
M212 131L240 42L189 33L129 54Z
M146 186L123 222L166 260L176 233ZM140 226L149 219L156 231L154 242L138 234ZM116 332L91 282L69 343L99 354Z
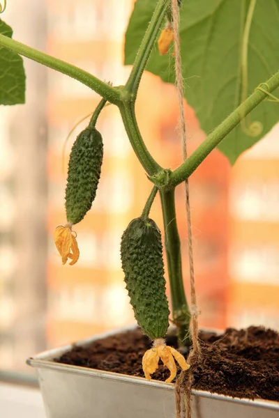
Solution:
M200 332L199 338L202 362L191 366L194 389L279 401L277 332L263 327L240 331L228 328L221 335ZM172 336L169 336L168 344L177 348ZM56 361L144 377L142 356L149 348L149 339L140 330L134 330L96 341L88 348L73 346L73 350ZM168 376L169 371L160 364L152 378L165 380Z

